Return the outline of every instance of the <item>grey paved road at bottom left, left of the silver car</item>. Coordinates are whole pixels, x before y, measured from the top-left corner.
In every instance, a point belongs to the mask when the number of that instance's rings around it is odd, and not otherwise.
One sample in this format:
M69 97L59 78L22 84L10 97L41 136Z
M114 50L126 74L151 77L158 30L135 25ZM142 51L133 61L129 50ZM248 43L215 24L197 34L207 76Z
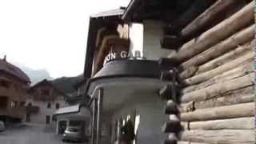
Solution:
M20 124L0 133L0 144L68 144L46 125Z

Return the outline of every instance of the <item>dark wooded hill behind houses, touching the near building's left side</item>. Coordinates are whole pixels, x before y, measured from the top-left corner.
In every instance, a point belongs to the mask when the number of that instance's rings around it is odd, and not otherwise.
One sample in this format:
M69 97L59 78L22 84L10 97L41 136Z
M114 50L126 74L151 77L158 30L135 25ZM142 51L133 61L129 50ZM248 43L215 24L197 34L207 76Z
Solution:
M83 79L83 76L81 74L81 75L78 75L77 77L56 78L51 82L54 84L54 86L56 86L56 88L58 88L58 90L61 90L66 94L70 94L76 91L74 86L77 85L78 82L81 82L82 79Z

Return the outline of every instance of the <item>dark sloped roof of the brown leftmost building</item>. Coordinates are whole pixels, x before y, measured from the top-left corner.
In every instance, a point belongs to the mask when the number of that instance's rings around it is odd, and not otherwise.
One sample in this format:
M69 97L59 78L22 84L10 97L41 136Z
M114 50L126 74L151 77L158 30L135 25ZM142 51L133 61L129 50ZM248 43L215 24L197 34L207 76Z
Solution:
M6 62L5 59L0 58L0 71L6 72L7 74L11 74L14 77L18 78L22 82L30 82L30 78L17 66Z

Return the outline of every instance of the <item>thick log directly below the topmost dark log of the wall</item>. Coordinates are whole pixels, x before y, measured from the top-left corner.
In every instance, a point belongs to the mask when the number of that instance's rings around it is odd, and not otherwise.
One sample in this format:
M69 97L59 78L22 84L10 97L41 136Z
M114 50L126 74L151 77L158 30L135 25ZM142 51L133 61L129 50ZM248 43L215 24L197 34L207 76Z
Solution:
M194 57L194 55L207 50L210 46L214 46L238 30L248 26L253 20L254 2L250 2L250 4L239 10L236 14L233 14L230 18L207 30L198 38L187 42L180 48L174 58L177 58L179 62L185 62Z

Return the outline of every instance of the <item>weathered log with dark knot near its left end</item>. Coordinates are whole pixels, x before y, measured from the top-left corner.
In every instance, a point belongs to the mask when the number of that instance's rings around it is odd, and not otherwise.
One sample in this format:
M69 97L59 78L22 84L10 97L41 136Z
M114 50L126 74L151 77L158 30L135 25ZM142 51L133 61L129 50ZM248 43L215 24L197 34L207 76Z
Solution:
M254 86L249 86L240 90L232 90L229 93L220 95L220 98L215 97L202 102L194 102L194 104L192 103L193 105L191 105L191 102L182 103L178 107L178 110L180 113L183 113L194 111L197 109L206 109L218 106L230 106L247 102L254 102Z

